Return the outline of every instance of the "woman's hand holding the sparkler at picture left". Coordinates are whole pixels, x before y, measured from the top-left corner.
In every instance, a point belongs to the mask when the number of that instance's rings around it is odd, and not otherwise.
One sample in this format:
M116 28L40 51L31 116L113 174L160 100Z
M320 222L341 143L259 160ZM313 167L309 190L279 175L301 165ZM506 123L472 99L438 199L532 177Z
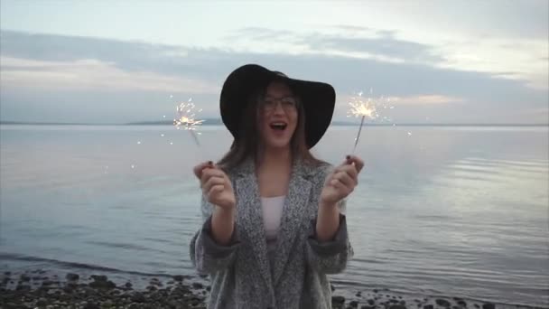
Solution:
M226 173L211 161L196 165L193 172L200 180L202 193L210 203L225 210L235 208L235 193Z

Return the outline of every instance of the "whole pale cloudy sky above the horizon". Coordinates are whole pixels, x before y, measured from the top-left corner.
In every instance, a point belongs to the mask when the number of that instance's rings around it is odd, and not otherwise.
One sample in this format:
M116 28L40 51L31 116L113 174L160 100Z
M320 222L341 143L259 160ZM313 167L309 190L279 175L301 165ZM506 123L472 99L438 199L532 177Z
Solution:
M387 102L394 123L549 123L549 1L0 2L0 120L219 117L247 63Z

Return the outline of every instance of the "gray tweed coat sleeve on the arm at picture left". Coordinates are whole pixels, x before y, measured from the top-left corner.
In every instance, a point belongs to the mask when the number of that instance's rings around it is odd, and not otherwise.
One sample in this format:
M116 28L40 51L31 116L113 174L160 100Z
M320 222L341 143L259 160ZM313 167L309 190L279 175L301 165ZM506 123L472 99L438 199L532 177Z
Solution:
M211 214L214 206L202 196L200 209L203 224L191 239L189 252L192 265L200 274L206 275L230 267L235 261L240 243L237 239L236 228L228 246L216 243L211 234Z

